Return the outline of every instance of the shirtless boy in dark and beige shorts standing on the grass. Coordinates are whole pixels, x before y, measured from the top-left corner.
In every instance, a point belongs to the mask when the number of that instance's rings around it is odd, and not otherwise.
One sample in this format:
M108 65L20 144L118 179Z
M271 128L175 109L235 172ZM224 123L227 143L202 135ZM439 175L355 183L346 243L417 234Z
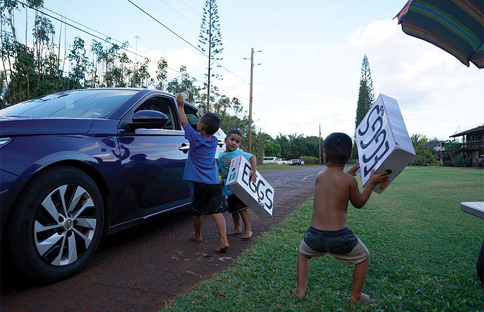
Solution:
M361 208L368 201L376 184L388 175L386 172L371 177L363 192L353 177L359 164L356 163L346 173L345 163L350 159L352 140L347 134L333 133L324 140L324 162L327 169L316 178L314 189L314 207L311 226L299 246L297 259L297 287L292 294L300 298L306 293L309 272L309 260L312 257L330 253L345 266L354 265L353 285L350 301L357 303L369 301L371 297L363 290L370 252L361 240L346 227L348 201L356 208Z

